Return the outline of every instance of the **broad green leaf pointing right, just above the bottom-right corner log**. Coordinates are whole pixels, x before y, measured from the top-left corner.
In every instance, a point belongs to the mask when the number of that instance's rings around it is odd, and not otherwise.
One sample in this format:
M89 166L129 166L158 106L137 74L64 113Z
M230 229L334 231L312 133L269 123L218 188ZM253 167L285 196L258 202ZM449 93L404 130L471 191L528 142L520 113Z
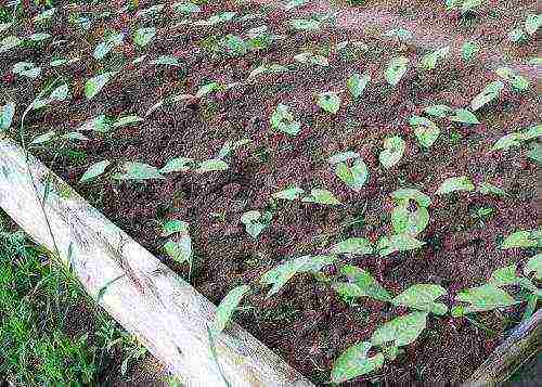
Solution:
M457 294L455 300L469 304L460 310L455 309L455 312L461 311L460 315L505 308L517 304L509 294L492 284L464 289Z

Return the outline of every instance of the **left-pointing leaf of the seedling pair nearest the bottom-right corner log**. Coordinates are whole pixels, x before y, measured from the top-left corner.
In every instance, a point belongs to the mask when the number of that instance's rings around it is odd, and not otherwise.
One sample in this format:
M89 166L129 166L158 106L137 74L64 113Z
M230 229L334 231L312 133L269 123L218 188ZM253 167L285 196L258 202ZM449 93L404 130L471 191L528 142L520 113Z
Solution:
M442 286L416 284L396 296L391 304L443 315L448 312L448 307L444 304L435 302L435 300L446 294L447 291Z

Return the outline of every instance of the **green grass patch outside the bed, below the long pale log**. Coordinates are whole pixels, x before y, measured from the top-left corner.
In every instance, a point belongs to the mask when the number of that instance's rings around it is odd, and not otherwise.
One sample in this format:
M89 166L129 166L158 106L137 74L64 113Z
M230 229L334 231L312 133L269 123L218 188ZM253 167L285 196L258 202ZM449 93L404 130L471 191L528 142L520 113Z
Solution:
M94 385L144 354L0 214L0 384Z

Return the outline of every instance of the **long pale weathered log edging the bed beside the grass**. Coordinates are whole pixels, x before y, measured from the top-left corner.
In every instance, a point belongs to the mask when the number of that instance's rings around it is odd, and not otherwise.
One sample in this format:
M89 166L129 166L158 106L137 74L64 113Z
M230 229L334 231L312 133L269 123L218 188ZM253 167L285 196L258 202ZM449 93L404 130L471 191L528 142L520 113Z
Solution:
M0 207L38 244L57 247L91 295L105 289L100 304L184 385L312 385L238 325L214 340L218 366L207 331L216 307L2 133Z

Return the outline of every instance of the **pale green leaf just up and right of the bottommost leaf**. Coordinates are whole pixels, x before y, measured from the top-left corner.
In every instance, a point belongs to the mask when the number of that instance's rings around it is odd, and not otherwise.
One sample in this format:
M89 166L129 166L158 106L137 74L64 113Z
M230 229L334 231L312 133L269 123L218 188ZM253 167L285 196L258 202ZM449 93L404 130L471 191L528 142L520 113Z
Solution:
M371 337L373 346L392 343L396 347L413 343L425 330L428 312L411 312L379 326Z

